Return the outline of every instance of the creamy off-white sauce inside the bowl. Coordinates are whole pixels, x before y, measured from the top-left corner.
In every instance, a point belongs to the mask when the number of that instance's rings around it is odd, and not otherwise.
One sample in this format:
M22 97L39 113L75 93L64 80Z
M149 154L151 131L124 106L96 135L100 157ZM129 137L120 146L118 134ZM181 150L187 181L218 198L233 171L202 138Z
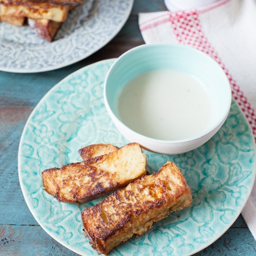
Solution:
M214 104L204 85L175 70L151 70L131 79L117 104L125 125L159 140L196 136L214 118Z

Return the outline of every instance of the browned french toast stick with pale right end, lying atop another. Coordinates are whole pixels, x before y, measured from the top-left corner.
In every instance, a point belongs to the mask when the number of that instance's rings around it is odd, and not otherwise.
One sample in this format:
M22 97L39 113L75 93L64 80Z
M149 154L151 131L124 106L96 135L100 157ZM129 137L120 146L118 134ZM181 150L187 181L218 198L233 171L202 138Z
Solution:
M87 202L126 186L146 172L146 157L137 143L109 154L42 172L43 187L58 201Z

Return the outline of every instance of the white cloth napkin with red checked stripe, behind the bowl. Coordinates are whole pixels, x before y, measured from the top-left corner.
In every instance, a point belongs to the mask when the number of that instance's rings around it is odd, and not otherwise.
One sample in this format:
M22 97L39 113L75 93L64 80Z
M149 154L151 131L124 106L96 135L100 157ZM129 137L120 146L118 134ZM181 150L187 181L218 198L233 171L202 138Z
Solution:
M146 44L190 45L217 61L256 140L256 0L219 0L198 9L139 13ZM256 182L242 216L256 239Z

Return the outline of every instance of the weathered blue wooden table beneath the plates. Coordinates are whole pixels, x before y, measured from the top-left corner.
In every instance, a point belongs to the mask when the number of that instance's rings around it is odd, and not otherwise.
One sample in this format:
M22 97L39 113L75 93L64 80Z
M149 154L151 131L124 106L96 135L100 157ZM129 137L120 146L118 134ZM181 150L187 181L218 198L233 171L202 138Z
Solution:
M61 79L88 64L116 58L144 44L138 28L138 12L163 10L166 10L163 0L135 0L128 21L116 37L76 64L43 73L0 72L0 255L77 255L52 239L26 206L17 172L23 127L40 99ZM256 255L256 241L240 215L226 233L195 255Z

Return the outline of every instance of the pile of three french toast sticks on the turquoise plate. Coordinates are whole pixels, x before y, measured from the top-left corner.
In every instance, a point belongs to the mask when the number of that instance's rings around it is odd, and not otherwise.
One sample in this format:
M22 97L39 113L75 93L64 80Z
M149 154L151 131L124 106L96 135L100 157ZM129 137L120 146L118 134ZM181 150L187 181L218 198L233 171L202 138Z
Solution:
M42 172L43 187L58 201L72 204L108 194L81 212L84 235L99 254L108 255L170 212L191 205L191 190L175 163L168 161L150 175L137 143L89 145L79 153L84 161Z

